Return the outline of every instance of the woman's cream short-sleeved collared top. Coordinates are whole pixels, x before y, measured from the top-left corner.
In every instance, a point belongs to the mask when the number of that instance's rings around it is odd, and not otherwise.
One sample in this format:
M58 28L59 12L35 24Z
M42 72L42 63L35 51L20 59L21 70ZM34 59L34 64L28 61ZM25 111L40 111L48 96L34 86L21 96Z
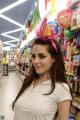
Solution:
M54 120L57 103L72 99L67 84L57 83L50 95L43 95L50 90L51 81L31 85L15 104L15 120Z

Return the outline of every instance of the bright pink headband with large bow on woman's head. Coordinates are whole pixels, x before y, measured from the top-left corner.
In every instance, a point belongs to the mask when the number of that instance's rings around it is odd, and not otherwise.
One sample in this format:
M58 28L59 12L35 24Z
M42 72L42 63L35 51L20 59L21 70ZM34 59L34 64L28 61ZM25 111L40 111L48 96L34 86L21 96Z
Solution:
M39 28L36 31L36 35L42 40L49 39L55 50L57 51L56 44L54 43L54 39L57 37L56 33L50 28L47 24L47 18L44 18L41 22Z

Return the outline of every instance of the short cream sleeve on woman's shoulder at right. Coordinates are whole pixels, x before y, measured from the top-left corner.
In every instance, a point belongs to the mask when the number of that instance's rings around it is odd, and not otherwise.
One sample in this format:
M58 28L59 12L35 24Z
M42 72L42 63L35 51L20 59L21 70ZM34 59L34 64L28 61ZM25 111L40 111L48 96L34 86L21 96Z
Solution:
M69 86L66 83L58 83L55 88L56 101L72 100Z

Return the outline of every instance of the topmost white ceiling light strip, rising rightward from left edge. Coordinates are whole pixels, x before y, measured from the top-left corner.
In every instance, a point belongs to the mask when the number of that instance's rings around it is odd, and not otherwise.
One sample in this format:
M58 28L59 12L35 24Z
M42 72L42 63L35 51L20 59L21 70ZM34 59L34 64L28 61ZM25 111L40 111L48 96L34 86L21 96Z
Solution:
M11 4L11 5L3 8L3 9L1 9L1 10L0 10L0 14L2 14L2 13L4 13L4 12L6 12L6 11L8 11L8 10L10 10L10 9L12 9L12 8L14 8L14 7L22 4L22 3L24 3L24 2L26 2L26 1L27 1L27 0L18 0L17 2L15 2L15 3L13 3L13 4Z

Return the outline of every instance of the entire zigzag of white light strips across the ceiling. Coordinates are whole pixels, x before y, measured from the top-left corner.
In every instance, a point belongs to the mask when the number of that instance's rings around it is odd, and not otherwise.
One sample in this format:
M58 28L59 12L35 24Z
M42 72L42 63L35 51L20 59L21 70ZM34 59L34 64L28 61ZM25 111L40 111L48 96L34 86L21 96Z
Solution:
M11 43L12 43L12 42L19 41L19 38L16 38L16 37L13 37L13 36L10 36L10 35L7 35L7 34L14 33L14 32L18 32L18 31L23 30L23 29L24 29L24 25L16 22L16 21L13 20L13 19L10 19L9 17L3 15L3 13L6 12L6 11L8 11L8 10L10 10L10 9L12 9L12 8L14 8L14 7L17 7L18 5L20 5L20 4L22 4L22 3L26 2L26 1L27 1L27 0L18 0L17 2L14 2L14 3L10 4L9 6L6 6L5 8L3 8L3 9L0 10L0 17L1 17L1 18L3 18L3 19L5 19L6 21L11 22L11 23L13 23L13 24L15 24L15 25L17 25L17 26L20 27L20 29L15 29L15 30L7 31L7 32L4 32L4 33L1 34L2 36L5 36L5 37L7 37L7 38L12 39L12 40L10 40L10 41L3 42L3 44L9 45L9 46L7 46L8 48L10 48L10 47L15 47L16 45L11 44ZM5 48L7 48L7 47L5 47Z

